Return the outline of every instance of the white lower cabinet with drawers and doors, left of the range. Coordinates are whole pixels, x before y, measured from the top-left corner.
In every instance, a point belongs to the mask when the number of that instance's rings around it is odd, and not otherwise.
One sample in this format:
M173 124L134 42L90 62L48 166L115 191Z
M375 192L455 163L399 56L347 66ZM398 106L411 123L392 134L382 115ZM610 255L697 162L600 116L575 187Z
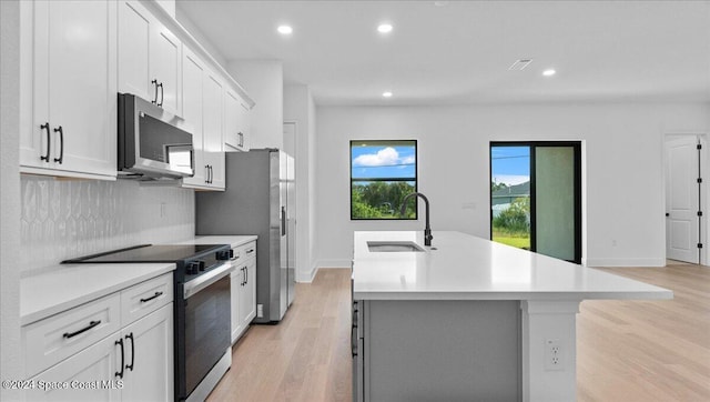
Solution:
M102 335L121 316L131 321ZM172 401L172 273L26 325L22 343L39 360L27 364L29 401Z

